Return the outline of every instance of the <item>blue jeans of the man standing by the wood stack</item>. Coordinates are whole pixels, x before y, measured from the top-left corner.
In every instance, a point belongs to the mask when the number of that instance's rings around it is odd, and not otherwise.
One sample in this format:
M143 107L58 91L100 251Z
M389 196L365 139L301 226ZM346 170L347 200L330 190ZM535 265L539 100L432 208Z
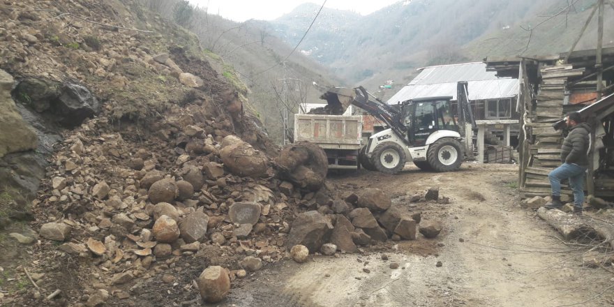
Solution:
M582 208L584 202L584 173L585 167L571 163L563 163L560 167L555 168L550 174L550 186L552 195L561 195L561 180L569 178L569 185L574 190L574 207Z

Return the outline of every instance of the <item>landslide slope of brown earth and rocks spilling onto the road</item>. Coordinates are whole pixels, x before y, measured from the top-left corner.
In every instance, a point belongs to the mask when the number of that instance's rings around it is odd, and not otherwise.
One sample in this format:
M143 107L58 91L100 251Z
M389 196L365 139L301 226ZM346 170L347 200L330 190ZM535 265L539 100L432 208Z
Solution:
M327 186L319 147L279 151L195 36L134 1L69 2L0 2L13 100L39 142L63 135L31 202L38 241L24 240L37 287L3 304L138 306L194 287L216 301L297 245L415 239L417 217L382 191Z

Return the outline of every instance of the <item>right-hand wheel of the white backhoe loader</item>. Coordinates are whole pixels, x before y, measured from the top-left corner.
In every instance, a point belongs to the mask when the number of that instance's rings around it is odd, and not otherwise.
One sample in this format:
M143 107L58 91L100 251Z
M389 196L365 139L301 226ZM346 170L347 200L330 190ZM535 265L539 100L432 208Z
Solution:
M428 147L426 160L435 172L451 172L458 170L463 163L463 147L457 140L444 137Z

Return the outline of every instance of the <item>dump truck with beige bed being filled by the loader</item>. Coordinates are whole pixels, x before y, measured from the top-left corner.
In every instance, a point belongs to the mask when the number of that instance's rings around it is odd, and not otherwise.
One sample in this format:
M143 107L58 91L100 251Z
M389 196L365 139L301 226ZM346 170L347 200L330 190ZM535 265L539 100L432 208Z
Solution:
M332 170L359 167L361 136L361 116L294 114L294 141L309 141L322 147Z

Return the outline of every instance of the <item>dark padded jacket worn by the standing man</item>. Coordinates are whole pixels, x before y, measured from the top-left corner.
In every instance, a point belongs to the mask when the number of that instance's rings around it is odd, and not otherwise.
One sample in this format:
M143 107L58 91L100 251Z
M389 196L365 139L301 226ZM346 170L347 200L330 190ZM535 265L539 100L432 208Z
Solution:
M588 167L589 140L590 126L587 123L578 123L572 127L569 135L563 140L561 162Z

